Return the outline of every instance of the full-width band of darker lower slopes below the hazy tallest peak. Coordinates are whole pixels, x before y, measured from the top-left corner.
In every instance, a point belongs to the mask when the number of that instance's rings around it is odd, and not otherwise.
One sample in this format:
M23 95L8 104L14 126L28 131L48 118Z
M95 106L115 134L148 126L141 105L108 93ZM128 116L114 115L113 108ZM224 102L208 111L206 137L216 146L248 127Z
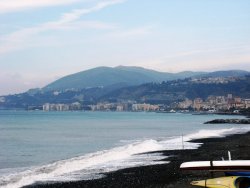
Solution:
M216 79L215 79L216 80ZM122 88L121 88L122 87ZM136 101L138 103L170 104L183 101L185 98L205 99L210 95L225 96L233 94L242 98L250 97L250 76L222 79L220 82L210 78L201 81L182 79L162 83L147 83L139 86L92 87L67 90L36 90L4 97L0 108L27 108L41 106L44 103L73 103L84 105L98 102ZM2 100L3 101L3 100Z

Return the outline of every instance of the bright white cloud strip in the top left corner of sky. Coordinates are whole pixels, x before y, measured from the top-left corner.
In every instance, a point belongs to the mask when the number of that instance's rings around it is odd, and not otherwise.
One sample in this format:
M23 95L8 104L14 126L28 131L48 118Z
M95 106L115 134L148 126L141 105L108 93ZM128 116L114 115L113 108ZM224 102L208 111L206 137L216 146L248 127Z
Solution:
M0 0L0 13L23 11L27 9L67 5L80 0Z

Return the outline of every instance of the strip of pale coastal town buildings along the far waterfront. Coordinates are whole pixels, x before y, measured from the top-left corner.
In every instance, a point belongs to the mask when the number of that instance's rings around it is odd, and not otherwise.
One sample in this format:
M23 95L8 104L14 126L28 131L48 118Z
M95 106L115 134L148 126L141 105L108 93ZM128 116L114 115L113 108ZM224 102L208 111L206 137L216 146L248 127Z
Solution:
M100 102L95 105L83 106L79 102L72 104L51 104L45 103L43 111L148 111L148 112L225 112L233 111L237 113L241 109L250 108L250 99L243 99L232 94L227 96L209 96L205 100L195 98L194 100L186 98L180 102L174 102L170 105L137 103L136 101L123 101L119 103Z

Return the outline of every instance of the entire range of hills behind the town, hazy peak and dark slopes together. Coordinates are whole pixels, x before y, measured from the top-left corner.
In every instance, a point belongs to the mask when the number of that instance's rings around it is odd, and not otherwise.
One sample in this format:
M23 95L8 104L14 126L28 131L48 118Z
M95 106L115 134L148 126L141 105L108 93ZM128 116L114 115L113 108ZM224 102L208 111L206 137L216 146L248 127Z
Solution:
M0 109L27 109L44 103L89 105L129 100L169 104L185 98L228 93L249 98L250 77L245 76L248 74L241 70L164 73L141 67L97 67L65 76L42 89L2 96Z

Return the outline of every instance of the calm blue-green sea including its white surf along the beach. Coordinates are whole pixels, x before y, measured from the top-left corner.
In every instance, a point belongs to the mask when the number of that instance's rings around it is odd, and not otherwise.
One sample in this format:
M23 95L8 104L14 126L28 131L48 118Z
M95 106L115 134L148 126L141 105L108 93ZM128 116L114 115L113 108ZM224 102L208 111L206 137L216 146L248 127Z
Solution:
M204 124L244 118L153 112L0 111L0 187L103 177L119 169L168 163L152 151L196 149L193 139L250 131Z

